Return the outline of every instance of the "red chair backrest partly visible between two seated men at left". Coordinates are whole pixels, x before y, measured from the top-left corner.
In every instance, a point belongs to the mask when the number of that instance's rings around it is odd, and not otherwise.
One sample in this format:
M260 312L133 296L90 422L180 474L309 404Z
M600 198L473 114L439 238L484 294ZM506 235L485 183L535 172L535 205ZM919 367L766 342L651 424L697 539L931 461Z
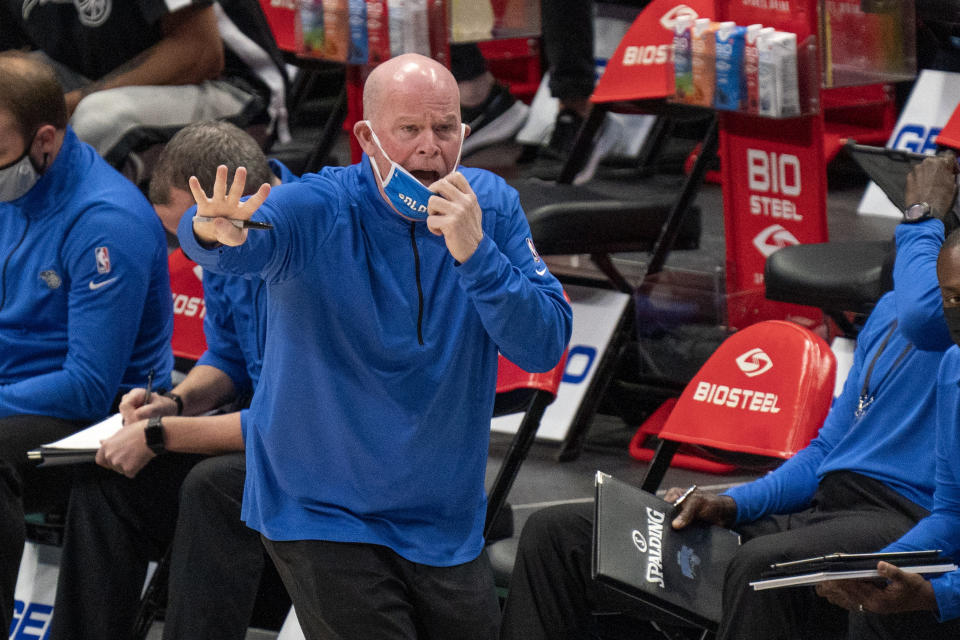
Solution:
M173 293L173 355L195 362L207 350L207 339L203 334L206 306L202 271L181 249L169 255L167 266Z

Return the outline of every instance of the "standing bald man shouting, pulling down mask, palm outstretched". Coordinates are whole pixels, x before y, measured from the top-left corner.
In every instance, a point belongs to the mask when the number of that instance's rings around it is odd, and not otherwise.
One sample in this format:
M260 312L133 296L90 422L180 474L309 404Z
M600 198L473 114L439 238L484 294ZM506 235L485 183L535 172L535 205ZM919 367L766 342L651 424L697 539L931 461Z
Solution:
M244 202L240 171L229 189L219 171L212 198L191 181L187 255L267 283L242 517L307 638L491 639L481 552L497 351L552 368L571 311L516 191L458 169L467 129L447 69L391 59L363 106L358 164ZM233 224L251 216L273 228Z

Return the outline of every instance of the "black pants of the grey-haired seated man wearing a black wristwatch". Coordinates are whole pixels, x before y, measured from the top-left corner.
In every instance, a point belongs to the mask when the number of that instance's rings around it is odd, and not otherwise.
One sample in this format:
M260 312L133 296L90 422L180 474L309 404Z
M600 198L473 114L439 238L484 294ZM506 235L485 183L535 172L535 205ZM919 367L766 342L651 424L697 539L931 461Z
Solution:
M169 547L164 638L242 639L265 564L240 521L244 474L242 453L168 454L132 480L88 469L70 498L50 638L128 637L147 563Z

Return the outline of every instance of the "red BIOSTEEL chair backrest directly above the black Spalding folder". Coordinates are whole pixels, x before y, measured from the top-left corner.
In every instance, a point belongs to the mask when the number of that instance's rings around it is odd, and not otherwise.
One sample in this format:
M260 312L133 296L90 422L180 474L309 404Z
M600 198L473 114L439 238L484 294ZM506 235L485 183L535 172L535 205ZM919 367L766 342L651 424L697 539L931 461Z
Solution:
M700 368L660 438L789 458L823 424L835 371L829 345L809 329L783 320L751 325Z

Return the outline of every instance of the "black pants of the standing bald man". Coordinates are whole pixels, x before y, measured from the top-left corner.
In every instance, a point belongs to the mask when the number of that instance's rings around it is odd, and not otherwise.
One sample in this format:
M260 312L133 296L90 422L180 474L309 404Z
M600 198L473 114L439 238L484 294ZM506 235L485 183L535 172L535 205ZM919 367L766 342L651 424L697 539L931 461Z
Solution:
M453 567L372 544L262 538L307 640L493 640L500 611L486 554Z

